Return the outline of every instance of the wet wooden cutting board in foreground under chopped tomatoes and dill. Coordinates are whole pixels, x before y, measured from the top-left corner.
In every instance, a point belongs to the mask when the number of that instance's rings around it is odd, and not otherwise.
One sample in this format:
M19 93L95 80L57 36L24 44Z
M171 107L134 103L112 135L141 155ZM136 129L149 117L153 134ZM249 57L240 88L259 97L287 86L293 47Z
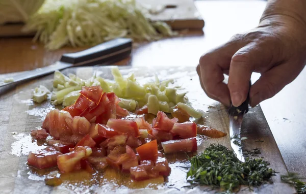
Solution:
M67 69L64 74L74 73L81 78L89 78L94 73L106 79L112 79L110 67L87 67ZM202 91L195 68L134 68L120 67L121 73L127 75L135 72L139 82L154 80L157 73L160 80L173 78L175 84L182 85L188 91L187 97L196 109L202 110L204 116L198 122L210 125L227 133L226 137L208 139L197 137L200 154L211 143L222 144L230 148L228 135L227 110L219 103L211 100ZM94 175L84 172L62 175L63 184L57 187L46 186L44 175L46 173L33 170L27 166L28 152L39 148L39 142L31 141L29 133L35 127L41 126L43 117L53 107L50 102L34 104L31 91L39 85L52 88L53 75L46 76L28 83L3 88L0 90L0 193L214 193L207 191L209 187L201 186L193 189L184 187L186 182L186 167L189 165L185 154L167 154L171 167L171 174L164 181L160 179L133 182L129 176L121 175L113 169ZM1 79L1 77L0 77ZM184 90L182 90L183 92ZM287 169L281 153L279 152L270 128L259 106L252 108L245 115L242 124L244 150L259 147L265 160L271 163L276 172L273 184L263 185L254 189L241 189L239 193L295 193L293 187L281 183L280 175L286 174ZM263 142L258 142L262 140ZM189 154L192 156L193 154Z

